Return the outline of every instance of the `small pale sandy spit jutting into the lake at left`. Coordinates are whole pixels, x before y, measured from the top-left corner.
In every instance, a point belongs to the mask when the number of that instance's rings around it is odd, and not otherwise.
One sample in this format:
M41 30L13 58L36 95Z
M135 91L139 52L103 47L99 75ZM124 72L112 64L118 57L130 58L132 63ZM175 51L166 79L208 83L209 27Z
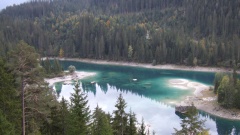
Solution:
M71 83L72 80L80 80L85 77L93 76L96 73L90 73L90 72L79 72L75 71L73 74L66 75L63 77L55 77L51 79L44 79L45 82L49 83L49 86L52 86L56 82L66 82L66 83Z

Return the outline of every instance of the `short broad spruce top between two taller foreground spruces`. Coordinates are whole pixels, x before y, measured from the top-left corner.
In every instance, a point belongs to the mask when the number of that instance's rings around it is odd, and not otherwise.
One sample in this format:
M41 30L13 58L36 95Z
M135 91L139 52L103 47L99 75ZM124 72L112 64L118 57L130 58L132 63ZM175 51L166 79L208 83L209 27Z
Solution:
M113 135L110 119L98 106L93 112L92 135Z

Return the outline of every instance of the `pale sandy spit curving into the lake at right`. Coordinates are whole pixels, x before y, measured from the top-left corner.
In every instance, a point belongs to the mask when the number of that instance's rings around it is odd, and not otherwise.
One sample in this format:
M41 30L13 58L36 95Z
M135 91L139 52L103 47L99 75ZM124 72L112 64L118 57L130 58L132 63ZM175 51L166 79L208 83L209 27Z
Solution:
M187 96L180 103L171 102L176 106L191 106L193 103L198 110L226 119L240 120L240 110L224 109L221 107L217 103L217 96L213 91L209 91L209 86L186 79L171 79L169 80L169 85L183 90L194 90L193 96Z

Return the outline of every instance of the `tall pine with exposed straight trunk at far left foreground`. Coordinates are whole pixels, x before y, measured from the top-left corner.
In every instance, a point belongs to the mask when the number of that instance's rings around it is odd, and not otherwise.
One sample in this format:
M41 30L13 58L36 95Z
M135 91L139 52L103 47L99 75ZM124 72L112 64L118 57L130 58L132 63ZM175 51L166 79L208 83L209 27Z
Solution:
M23 135L38 132L41 122L50 113L51 104L56 101L52 90L44 82L38 58L35 49L24 41L20 41L9 53L9 67L20 80Z

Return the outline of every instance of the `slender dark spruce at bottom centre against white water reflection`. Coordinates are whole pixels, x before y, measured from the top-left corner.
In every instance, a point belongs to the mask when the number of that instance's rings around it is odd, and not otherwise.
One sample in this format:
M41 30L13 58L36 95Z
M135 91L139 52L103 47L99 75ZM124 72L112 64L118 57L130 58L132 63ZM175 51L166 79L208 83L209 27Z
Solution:
M119 95L115 107L117 110L113 111L113 133L114 135L124 135L127 133L128 118L127 113L124 110L127 107L127 103L123 99L122 94Z

